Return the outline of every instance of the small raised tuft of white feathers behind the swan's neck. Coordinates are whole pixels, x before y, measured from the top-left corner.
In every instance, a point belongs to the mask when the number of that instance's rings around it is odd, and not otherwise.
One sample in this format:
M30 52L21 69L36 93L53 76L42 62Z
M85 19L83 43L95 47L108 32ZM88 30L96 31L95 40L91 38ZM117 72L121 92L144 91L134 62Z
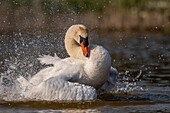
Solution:
M46 64L46 65L53 64L54 65L61 59L55 53L54 57L50 55L43 55L43 56L40 56L38 60L40 61L41 64Z

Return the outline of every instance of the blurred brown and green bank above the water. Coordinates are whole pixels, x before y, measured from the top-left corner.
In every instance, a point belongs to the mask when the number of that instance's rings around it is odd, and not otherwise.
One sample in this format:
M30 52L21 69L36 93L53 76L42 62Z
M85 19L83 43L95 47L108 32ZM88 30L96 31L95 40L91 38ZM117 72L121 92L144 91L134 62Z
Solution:
M169 0L0 0L0 33L57 33L75 23L108 33L170 33Z

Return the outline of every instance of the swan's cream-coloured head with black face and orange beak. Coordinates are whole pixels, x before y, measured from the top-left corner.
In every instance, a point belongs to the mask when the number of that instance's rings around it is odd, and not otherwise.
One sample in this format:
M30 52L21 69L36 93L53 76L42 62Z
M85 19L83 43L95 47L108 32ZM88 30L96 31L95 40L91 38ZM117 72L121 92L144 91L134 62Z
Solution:
M82 53L85 57L90 56L89 51L89 40L88 40L88 30L84 25L76 24L72 25L66 32L65 45L68 40L72 40L71 44L76 46L81 46ZM70 42L69 42L70 43ZM74 46L75 47L75 46Z

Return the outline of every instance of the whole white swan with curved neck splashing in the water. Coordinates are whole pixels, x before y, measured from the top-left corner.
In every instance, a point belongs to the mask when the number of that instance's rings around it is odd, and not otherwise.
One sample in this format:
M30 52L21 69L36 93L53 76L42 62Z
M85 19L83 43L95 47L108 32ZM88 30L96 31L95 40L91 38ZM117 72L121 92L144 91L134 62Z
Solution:
M70 57L60 59L56 55L39 58L43 64L53 64L42 69L29 81L18 81L26 98L41 100L93 100L96 89L117 74L111 67L106 49L89 45L88 31L84 25L72 25L65 35L65 48ZM109 79L109 80L108 80ZM109 81L112 83L113 81ZM104 87L107 87L105 85Z

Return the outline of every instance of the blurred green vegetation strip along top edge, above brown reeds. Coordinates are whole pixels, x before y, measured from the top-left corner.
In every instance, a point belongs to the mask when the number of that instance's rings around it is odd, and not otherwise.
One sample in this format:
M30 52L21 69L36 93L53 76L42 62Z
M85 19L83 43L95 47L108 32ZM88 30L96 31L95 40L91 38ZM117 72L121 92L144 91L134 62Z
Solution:
M32 6L34 0L8 0L12 7ZM103 12L109 8L125 10L169 10L170 0L40 0L46 14Z

